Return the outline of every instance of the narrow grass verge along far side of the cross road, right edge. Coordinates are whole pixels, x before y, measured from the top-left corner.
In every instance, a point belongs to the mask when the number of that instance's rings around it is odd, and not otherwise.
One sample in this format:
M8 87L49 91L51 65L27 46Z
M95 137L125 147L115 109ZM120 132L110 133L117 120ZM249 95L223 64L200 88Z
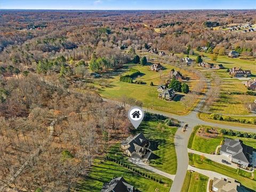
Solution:
M210 114L205 114L205 113L199 113L198 117L201 118L202 120L206 122L213 122L213 123L219 123L223 125L233 125L233 126L244 126L244 127L250 127L250 128L256 128L255 124L245 124L245 123L238 123L238 122L228 122L228 121L219 121L219 120L214 120L210 118ZM243 117L243 116L231 116L233 118L237 119L255 119L256 117Z

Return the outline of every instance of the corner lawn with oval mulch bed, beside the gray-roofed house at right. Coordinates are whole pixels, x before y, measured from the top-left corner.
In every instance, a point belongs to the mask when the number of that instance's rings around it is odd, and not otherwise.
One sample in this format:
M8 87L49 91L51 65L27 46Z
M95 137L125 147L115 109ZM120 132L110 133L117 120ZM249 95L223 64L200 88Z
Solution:
M245 145L251 146L254 149L256 149L256 139L252 139L252 138L243 138L243 137L236 137L236 136L230 136L230 135L223 135L223 134L219 134L219 136L217 138L202 138L198 135L196 135L196 132L198 131L199 128L206 128L209 127L211 128L211 126L206 126L206 125L198 125L194 127L193 133L191 134L190 138L189 138L189 144L188 144L188 148L197 150L197 151L201 151L203 153L208 153L210 154L212 151L215 151L215 149L217 148L217 146L221 145L221 141L225 138L230 138L230 139L240 139L243 141L243 143ZM214 129L217 129L218 132L220 133L220 129L214 127Z

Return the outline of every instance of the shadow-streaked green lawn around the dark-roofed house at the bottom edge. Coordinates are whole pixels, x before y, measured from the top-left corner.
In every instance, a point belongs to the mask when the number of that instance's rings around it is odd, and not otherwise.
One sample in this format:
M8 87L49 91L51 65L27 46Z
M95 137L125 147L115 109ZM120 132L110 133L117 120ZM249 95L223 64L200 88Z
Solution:
M103 183L121 176L140 191L155 191L158 188L159 191L167 192L170 190L172 183L171 180L165 179L165 182L168 182L168 186L165 187L164 184L142 177L117 163L95 159L90 173L83 181L79 182L77 188L78 191L99 192L102 189ZM158 178L161 177L158 176Z

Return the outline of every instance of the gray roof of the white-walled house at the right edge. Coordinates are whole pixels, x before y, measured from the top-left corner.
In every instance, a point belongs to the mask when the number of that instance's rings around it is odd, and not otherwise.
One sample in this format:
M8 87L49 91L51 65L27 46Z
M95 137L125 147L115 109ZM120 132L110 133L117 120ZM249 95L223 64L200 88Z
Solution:
M225 153L232 151L232 153L229 153L232 154L231 157L245 163L250 163L249 155L252 155L253 148L244 145L244 143L240 140L226 138L224 145L221 146L220 150Z

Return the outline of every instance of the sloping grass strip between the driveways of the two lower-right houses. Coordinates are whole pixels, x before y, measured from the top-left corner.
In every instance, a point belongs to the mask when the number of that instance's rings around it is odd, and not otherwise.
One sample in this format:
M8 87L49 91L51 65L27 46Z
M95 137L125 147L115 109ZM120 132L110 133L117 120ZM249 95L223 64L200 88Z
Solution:
M236 179L237 181L241 182L243 186L254 191L256 190L255 176L254 178L252 177L254 174L247 174L243 170L233 169L229 166L213 162L205 157L202 158L196 154L189 154L189 164L198 167L199 169L210 170L226 175L227 177Z

